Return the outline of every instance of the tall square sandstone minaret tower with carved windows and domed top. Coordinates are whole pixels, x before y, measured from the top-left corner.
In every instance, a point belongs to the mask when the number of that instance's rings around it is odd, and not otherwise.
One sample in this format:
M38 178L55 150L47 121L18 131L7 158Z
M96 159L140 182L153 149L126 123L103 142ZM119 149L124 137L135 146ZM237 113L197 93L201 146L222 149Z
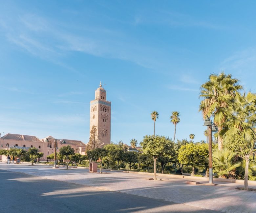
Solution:
M95 90L95 99L90 103L90 132L92 126L97 128L100 144L110 144L111 102L107 101L107 91L102 88Z

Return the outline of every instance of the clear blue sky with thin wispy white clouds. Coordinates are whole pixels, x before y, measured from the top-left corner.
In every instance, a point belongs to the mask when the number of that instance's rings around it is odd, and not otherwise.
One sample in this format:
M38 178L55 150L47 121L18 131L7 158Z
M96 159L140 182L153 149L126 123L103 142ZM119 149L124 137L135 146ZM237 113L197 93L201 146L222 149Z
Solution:
M89 140L102 81L111 140L205 140L199 88L231 73L255 88L254 1L1 1L0 132ZM4 132L4 133L3 133Z

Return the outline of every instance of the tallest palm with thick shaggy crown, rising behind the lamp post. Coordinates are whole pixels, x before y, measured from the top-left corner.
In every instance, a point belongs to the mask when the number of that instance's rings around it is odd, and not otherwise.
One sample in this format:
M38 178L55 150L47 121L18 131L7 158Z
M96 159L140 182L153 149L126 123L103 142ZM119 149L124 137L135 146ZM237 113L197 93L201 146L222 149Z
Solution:
M203 119L206 116L214 117L214 123L218 126L220 134L218 135L218 148L223 147L222 130L226 121L227 113L232 108L232 101L237 91L243 89L239 85L239 79L232 78L232 75L211 74L207 82L201 85L200 97L203 98L199 106L199 111L203 113Z

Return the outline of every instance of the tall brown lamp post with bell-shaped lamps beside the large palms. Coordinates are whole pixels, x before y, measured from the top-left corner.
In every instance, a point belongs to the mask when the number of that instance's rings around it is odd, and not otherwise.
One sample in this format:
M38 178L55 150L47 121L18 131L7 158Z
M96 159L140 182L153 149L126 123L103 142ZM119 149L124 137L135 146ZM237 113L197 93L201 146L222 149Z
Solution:
M208 144L209 144L209 184L213 184L213 173L212 173L212 132L218 132L217 126L207 118L204 121L203 126L208 128Z

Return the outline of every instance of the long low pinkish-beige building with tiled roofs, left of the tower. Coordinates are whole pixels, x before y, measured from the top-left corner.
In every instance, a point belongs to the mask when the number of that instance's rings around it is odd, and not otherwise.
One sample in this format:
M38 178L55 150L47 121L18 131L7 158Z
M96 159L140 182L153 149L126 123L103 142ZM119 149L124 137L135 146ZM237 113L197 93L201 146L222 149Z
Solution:
M44 156L41 161L47 160L47 155L54 153L54 137L48 136L42 140L32 135L19 135L19 134L6 134L0 138L0 148L10 149L10 148L23 148L28 150L31 147L35 147L39 152L43 152ZM86 145L82 141L70 140L70 139L57 139L57 152L62 146L71 145L74 148L75 153L85 154ZM5 160L4 158L3 160ZM2 156L0 155L0 160Z

